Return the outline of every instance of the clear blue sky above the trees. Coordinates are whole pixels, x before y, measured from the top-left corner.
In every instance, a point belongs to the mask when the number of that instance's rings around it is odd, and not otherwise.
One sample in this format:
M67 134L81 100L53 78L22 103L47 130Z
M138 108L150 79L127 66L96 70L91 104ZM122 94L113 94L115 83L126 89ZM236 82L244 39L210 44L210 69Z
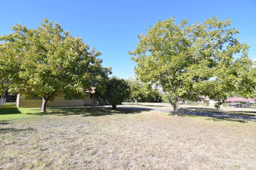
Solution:
M232 27L240 30L237 38L251 46L249 57L256 59L256 0L0 0L0 6L0 35L12 32L17 23L35 29L43 18L58 22L102 52L103 66L111 66L112 75L120 78L134 76L136 63L128 51L136 48L137 35L172 15L176 23L189 19L191 24L214 15L233 19Z

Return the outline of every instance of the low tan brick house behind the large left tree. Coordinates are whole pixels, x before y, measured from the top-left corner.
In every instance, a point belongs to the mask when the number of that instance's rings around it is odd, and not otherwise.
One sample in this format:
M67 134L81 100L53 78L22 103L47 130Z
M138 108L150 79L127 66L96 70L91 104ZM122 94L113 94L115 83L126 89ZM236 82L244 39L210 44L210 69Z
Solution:
M16 98L17 107L41 107L42 106L42 97L32 97L32 99L26 100L22 98L22 95L25 93L24 90L19 90ZM97 106L97 105L106 105L106 102L98 101L95 97L95 88L92 88L92 91L88 91L88 97L85 100L79 100L73 98L71 100L63 99L63 92L57 92L57 97L53 101L47 102L47 107L83 107L83 106Z

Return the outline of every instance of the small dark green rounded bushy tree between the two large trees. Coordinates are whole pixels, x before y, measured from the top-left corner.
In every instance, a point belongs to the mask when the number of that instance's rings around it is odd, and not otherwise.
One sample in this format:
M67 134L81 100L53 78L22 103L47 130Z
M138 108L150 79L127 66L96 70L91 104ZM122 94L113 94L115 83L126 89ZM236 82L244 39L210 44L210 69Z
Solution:
M112 105L113 109L116 109L116 105L122 104L123 100L130 95L130 87L123 79L118 79L116 76L112 76L109 80L106 80L99 84L95 89L95 97L97 100L106 101L109 105Z

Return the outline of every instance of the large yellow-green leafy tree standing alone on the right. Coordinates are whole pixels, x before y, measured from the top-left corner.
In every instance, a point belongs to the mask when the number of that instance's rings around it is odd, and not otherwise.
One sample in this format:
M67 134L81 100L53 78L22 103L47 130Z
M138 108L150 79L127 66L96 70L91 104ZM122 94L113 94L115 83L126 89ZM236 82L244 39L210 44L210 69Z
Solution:
M137 62L135 73L144 82L157 83L178 116L178 101L209 95L221 101L234 88L233 55L247 58L248 46L238 42L231 20L216 17L188 24L165 19L139 35L137 49L130 51ZM220 104L220 102L219 102Z

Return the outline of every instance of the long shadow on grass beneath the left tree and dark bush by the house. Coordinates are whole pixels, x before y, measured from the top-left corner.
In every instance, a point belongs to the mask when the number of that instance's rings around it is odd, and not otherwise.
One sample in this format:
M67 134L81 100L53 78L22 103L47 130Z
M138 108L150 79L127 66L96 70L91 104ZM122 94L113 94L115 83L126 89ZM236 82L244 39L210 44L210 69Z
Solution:
M134 110L134 109L123 109L116 108L116 110L112 110L112 108L108 107L52 107L48 108L45 113L27 113L33 115L56 115L56 116L70 116L70 115L81 115L83 117L88 116L105 116L112 114L139 114L143 110Z

